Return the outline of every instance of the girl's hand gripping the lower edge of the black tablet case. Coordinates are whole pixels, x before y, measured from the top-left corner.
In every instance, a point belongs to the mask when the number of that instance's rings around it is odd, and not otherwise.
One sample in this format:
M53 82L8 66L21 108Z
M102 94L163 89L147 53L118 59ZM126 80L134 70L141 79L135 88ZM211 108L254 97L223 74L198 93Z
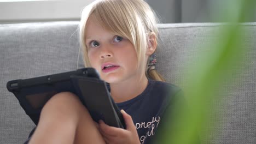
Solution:
M141 143L139 141L138 133L135 125L133 124L132 118L124 110L121 110L123 114L124 121L126 124L126 129L110 127L100 120L99 130L103 136L103 139L106 143Z

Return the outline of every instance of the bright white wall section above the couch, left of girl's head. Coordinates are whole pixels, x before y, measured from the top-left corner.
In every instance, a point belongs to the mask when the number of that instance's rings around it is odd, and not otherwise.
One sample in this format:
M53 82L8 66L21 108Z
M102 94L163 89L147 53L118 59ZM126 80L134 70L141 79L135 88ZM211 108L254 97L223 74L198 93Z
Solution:
M94 0L0 2L0 23L79 20L80 11Z

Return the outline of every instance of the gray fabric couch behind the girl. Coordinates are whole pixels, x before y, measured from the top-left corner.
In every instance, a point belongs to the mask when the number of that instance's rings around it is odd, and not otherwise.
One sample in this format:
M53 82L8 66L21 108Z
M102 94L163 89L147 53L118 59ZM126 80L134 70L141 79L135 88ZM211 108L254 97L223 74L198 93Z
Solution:
M188 77L182 71L199 51L194 41L205 44L214 39L219 23L161 24L156 69L168 82L179 86L178 79ZM248 36L241 49L250 49L245 57L241 82L226 85L229 93L212 105L219 111L211 115L203 143L256 143L256 23L244 23ZM34 127L18 100L6 88L14 79L26 79L83 67L79 56L78 22L38 22L0 25L0 143L22 143ZM252 60L252 61L251 61ZM248 62L248 63L247 63ZM181 86L182 87L182 86ZM189 96L189 95L188 95Z

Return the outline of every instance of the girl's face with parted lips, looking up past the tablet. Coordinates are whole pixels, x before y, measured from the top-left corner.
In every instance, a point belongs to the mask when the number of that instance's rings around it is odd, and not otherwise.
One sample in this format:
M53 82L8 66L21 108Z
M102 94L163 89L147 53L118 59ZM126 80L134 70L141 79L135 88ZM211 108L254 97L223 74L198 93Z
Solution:
M88 20L85 35L90 64L101 79L109 83L138 79L137 55L128 39L106 31L93 19Z

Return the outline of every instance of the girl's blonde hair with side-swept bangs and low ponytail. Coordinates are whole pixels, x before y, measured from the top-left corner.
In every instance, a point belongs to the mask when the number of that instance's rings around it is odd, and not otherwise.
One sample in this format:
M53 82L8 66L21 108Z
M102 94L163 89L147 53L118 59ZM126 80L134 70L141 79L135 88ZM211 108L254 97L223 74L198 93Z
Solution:
M135 47L138 70L146 71L153 80L164 81L156 70L147 70L146 49L148 34L158 36L154 11L143 0L98 0L86 6L80 20L80 44L83 50L85 67L91 67L85 44L86 24L93 19L107 31L117 33L131 41Z

